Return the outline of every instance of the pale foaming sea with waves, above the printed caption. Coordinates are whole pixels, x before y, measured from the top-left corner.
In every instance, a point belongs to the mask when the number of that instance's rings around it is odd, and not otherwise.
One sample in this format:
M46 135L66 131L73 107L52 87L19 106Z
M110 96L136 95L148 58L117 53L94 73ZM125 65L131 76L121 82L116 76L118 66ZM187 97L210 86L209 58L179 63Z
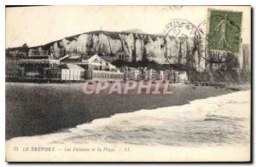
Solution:
M114 114L49 135L15 137L7 144L122 143L130 146L248 146L251 92L238 91L183 106Z

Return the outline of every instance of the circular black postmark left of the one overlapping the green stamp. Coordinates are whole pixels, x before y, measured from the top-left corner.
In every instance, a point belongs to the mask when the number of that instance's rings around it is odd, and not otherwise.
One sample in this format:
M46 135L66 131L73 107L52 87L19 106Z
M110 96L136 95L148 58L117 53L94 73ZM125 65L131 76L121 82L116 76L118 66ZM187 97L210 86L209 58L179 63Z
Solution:
M195 32L197 26L189 20L172 20L179 24L172 24L166 31L166 62L182 71L196 70L197 57L195 55Z

